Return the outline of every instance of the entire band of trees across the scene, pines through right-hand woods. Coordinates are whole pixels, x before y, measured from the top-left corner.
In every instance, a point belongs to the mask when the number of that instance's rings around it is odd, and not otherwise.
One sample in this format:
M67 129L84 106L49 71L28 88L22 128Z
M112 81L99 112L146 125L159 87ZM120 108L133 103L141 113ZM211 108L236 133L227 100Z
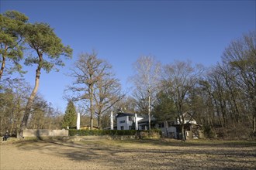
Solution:
M50 72L55 66L64 66L61 57L70 58L72 50L46 23L31 24L19 12L5 12L0 17L1 133L74 127L78 111L83 115L81 124L106 128L110 112L122 109L153 115L158 121L178 118L184 122L187 113L202 124L209 138L255 134L256 32L230 42L220 63L211 68L189 61L162 64L152 56L140 56L130 77L133 90L126 93L110 63L99 59L97 53L81 53L71 70L73 82L65 90L69 103L63 114L37 89L41 69ZM23 57L24 52L31 55ZM26 76L24 64L36 64L34 87L22 79ZM13 72L21 76L13 78Z

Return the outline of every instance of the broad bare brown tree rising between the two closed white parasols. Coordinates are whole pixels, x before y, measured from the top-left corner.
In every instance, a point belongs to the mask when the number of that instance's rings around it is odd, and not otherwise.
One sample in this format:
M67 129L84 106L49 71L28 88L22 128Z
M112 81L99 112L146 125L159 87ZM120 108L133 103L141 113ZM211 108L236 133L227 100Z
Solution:
M113 77L111 68L109 63L99 59L93 52L92 54L82 53L74 64L74 69L71 70L71 76L75 81L68 90L74 93L72 100L85 102L84 109L90 112L91 129L95 112L100 120L102 113L115 104L120 97L119 81Z

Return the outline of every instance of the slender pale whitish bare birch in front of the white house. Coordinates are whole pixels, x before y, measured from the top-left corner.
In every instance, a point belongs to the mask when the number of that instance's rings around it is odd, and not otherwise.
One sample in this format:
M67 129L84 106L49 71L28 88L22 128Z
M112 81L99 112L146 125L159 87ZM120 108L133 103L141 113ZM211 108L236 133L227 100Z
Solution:
M161 64L153 56L140 56L133 68L136 71L135 76L133 76L136 90L141 94L147 94L148 128L150 130L151 104L157 90Z

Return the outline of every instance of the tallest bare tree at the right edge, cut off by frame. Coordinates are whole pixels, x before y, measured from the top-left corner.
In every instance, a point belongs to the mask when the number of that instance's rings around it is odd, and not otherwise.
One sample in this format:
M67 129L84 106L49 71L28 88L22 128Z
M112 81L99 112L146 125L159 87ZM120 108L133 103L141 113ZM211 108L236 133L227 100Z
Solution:
M247 97L256 133L256 32L249 32L230 43L225 49L223 63L229 65L235 75L234 83ZM250 112L250 111L249 111Z

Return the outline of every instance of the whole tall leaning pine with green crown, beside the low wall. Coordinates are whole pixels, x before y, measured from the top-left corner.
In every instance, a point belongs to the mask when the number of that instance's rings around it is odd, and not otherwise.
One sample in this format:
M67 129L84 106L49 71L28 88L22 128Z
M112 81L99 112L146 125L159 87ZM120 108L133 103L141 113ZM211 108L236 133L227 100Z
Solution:
M35 85L32 93L26 104L22 124L20 125L19 136L22 136L23 129L27 128L29 115L33 106L33 101L36 97L37 90L40 84L41 70L50 73L51 70L57 70L57 66L64 66L63 56L71 58L72 49L69 46L64 46L61 39L56 36L54 29L50 28L47 23L26 24L23 29L22 36L25 38L28 50L36 52L26 57L25 65L36 65Z

